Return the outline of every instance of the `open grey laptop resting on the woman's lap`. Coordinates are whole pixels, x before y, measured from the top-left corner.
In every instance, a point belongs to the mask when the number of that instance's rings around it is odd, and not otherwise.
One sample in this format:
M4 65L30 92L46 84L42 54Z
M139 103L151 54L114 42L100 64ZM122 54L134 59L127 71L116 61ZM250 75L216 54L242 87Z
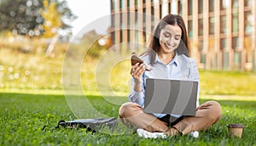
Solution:
M195 115L198 81L146 80L144 112Z

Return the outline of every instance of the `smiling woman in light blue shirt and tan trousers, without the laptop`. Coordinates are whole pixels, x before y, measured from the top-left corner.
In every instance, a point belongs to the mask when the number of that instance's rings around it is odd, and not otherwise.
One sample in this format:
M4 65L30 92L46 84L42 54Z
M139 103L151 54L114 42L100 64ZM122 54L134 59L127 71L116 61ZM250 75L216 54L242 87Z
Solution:
M143 112L145 81L148 77L199 81L197 66L190 58L187 31L181 16L168 14L160 20L141 59L153 70L145 71L143 64L131 66L131 102L122 104L119 109L119 118L125 125L173 136L206 130L220 119L220 105L208 101L199 106L198 97L194 116Z

